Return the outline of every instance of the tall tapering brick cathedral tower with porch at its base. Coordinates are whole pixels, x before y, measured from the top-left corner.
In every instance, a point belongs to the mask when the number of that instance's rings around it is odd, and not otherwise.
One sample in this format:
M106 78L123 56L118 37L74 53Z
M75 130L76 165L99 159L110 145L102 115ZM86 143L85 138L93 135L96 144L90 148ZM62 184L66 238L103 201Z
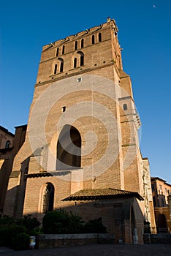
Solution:
M102 217L116 241L142 244L155 227L132 82L115 20L42 47L26 138L14 157L3 214L41 220L64 208Z

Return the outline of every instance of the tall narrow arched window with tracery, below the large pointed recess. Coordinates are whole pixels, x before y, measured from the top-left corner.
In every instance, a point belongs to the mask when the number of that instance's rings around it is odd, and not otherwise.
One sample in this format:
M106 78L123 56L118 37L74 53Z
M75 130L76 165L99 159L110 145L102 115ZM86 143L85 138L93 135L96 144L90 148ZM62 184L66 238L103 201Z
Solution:
M43 212L53 211L53 202L54 202L54 187L53 184L47 183L45 192L43 195Z

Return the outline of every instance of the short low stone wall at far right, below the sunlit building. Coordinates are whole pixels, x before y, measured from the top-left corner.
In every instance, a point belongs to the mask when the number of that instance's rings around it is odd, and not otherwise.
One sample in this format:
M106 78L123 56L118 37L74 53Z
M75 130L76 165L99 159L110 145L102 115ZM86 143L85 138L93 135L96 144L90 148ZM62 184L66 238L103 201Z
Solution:
M171 244L171 234L144 234L145 244Z

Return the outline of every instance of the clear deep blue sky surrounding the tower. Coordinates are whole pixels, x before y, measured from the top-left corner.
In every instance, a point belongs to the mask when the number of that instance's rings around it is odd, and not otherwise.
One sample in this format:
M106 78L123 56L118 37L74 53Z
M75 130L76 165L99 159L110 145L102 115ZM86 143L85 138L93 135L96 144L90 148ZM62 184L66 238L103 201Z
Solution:
M42 45L114 18L151 176L171 184L171 1L1 1L0 124L27 124Z

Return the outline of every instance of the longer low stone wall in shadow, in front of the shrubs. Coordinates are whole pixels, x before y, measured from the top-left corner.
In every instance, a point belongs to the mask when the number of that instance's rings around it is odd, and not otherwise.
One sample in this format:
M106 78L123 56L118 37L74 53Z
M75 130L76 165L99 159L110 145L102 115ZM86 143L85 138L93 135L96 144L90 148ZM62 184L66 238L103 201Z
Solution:
M37 236L39 249L84 244L115 244L112 234L40 234Z

